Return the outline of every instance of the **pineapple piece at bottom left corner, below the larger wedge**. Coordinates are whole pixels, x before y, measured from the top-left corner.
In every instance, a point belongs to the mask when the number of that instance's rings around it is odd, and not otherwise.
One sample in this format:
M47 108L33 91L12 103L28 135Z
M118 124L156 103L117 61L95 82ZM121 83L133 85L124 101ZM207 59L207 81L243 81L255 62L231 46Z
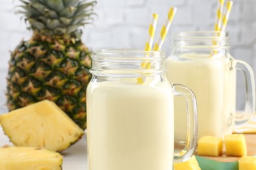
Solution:
M31 147L0 147L1 170L60 170L62 155Z

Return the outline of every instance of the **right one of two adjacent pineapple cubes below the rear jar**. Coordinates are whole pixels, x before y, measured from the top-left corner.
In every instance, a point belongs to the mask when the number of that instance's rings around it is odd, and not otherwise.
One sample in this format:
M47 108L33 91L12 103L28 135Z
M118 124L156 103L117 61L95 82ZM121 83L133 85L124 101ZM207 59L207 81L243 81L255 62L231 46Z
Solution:
M247 156L246 141L243 134L226 135L224 143L226 156Z

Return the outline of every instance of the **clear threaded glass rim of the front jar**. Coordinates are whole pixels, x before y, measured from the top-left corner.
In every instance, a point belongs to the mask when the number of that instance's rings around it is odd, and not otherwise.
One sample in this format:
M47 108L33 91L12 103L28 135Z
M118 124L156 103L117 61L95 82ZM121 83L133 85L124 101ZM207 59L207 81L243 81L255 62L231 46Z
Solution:
M95 50L91 55L93 75L130 75L163 73L165 53L133 48ZM144 65L144 66L142 66Z

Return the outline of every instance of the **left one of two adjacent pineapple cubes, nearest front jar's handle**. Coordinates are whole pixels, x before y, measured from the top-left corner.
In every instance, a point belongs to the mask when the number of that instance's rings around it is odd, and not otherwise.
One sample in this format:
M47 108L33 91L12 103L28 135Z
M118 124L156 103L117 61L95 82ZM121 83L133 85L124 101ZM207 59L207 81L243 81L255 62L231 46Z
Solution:
M221 137L204 136L198 141L198 154L205 156L220 156L223 154L223 139Z

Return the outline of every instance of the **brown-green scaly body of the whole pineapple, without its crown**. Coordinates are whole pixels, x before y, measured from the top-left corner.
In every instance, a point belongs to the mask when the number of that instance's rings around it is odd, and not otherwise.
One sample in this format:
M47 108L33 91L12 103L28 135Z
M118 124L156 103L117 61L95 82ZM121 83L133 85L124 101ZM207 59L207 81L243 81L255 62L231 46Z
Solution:
M81 39L34 32L11 53L7 106L14 110L48 99L85 129L90 68L91 52Z

